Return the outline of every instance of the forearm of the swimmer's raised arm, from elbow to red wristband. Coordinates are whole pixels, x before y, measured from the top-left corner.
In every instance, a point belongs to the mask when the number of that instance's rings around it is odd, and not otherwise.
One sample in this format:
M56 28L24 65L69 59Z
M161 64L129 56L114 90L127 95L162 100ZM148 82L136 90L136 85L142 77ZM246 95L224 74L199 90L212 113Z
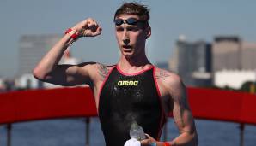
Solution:
M64 51L74 42L69 34L65 34L58 43L42 58L40 63L34 68L34 76L37 79L46 79L47 74L51 73L64 54Z

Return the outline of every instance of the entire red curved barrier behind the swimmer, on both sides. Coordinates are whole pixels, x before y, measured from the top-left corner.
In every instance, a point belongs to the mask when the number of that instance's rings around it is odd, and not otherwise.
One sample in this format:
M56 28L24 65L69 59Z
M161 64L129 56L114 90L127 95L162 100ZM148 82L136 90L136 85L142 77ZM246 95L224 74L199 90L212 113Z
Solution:
M256 96L212 89L188 88L195 118L256 125ZM0 94L0 124L27 120L97 116L89 88L14 91Z

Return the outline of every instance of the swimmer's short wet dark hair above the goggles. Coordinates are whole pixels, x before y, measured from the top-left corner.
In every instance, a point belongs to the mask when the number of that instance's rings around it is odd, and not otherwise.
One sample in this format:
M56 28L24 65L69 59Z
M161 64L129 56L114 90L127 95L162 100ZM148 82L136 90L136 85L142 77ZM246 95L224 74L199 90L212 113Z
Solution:
M114 18L120 16L120 15L137 15L139 16L140 20L144 20L149 22L150 16L149 16L149 8L143 4L132 2L132 3L124 3L117 9Z

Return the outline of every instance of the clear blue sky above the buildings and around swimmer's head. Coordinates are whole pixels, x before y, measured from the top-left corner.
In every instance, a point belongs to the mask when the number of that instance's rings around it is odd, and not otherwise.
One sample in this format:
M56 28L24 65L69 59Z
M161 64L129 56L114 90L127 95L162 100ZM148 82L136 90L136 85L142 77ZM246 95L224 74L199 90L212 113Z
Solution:
M131 1L127 1L131 2ZM256 42L256 2L236 0L205 1L138 1L151 9L152 36L147 55L153 62L168 61L174 42L180 34L187 40L212 42L217 35L238 35L247 42ZM101 3L99 7L99 3ZM81 38L71 48L83 61L113 64L119 49L113 32L113 13L123 1L32 1L0 2L2 23L0 77L18 73L19 40L26 34L63 34L68 27L87 17L98 20L103 32L97 38ZM72 7L71 7L72 6ZM102 7L105 6L105 7ZM101 52L102 53L99 53Z

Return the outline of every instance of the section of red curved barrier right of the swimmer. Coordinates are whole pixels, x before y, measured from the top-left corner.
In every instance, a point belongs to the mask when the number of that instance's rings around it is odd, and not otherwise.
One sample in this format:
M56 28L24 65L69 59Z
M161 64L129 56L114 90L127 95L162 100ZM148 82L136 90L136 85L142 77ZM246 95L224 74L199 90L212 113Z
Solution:
M195 118L256 125L256 96L238 91L188 88Z

